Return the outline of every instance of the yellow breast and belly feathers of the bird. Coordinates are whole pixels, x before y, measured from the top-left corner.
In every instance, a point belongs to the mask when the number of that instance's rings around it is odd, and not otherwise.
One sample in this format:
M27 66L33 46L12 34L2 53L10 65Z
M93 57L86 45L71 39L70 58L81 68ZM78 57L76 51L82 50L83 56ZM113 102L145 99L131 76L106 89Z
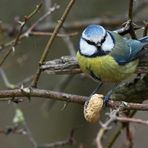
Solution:
M77 61L83 72L91 74L102 81L120 82L131 74L137 68L139 60L134 60L125 65L119 65L110 55L101 57L85 57L77 53Z

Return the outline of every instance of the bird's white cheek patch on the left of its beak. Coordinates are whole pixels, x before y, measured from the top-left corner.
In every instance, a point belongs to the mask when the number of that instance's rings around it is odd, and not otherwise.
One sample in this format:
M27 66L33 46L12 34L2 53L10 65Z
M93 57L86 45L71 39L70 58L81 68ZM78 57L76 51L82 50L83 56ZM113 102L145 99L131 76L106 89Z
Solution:
M83 39L80 40L80 51L83 55L91 56L97 52L97 48L93 45L89 45Z

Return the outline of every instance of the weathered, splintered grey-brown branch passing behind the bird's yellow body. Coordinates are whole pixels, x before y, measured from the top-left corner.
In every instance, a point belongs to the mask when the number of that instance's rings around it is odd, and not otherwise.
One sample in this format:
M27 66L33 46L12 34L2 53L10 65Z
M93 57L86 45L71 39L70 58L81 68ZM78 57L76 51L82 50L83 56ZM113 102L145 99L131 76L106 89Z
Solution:
M145 55L141 57L137 73L148 73L148 50L144 50ZM75 57L63 56L59 59L44 62L41 70L48 74L78 74L82 71Z

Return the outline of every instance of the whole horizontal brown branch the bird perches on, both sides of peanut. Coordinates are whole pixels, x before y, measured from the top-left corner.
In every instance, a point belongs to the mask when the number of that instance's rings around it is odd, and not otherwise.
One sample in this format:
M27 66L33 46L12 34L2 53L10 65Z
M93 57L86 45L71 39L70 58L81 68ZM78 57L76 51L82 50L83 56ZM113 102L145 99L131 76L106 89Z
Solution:
M11 89L0 90L0 101L13 101L18 103L24 101L27 98L32 98L32 97L51 99L55 101L66 101L69 103L76 103L80 105L84 105L85 101L89 99L87 96L73 95L57 91L28 88L28 87L13 89L13 90ZM108 107L111 107L113 109L118 108L121 105L123 110L126 109L126 110L148 111L148 104L128 103L128 102L113 101L113 100L110 100L107 104Z

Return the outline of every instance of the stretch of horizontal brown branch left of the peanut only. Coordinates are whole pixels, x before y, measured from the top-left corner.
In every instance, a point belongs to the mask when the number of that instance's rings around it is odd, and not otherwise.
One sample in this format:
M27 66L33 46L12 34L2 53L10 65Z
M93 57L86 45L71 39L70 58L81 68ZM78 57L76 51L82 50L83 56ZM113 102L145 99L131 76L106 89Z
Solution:
M13 89L13 90L0 90L0 101L23 101L20 98L16 97L40 97L47 98L59 101L73 102L78 104L84 104L87 97L72 95L67 93L61 93L56 91L44 90L44 89L36 89L36 88L21 88L21 89Z

